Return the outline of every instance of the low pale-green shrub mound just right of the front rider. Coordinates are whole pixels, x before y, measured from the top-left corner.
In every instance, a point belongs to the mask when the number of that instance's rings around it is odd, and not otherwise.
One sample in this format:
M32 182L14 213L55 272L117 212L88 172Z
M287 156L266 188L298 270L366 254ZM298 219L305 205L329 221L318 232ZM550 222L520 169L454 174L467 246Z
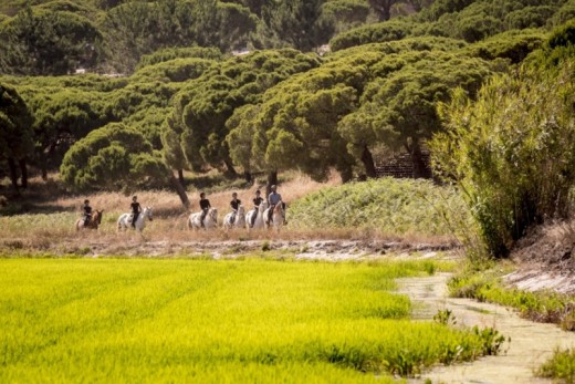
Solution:
M296 228L365 228L390 235L460 235L470 216L459 195L429 180L381 178L324 188L290 205Z

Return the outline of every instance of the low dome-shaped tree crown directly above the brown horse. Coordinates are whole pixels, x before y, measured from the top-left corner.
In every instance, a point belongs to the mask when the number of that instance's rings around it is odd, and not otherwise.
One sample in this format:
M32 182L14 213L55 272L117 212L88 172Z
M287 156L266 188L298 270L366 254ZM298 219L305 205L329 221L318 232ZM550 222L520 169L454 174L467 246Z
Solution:
M91 132L66 153L60 168L70 186L130 190L165 181L167 169L151 145L135 129L113 123Z

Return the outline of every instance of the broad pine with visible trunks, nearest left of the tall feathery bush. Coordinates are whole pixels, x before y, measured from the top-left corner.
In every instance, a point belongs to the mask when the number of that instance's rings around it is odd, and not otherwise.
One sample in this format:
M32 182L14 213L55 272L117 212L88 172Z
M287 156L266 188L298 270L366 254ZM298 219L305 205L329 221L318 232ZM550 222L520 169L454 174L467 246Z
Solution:
M368 175L365 151L384 143L393 149L407 149L414 176L421 177L421 142L441 128L437 104L449 100L456 86L474 94L491 70L482 60L432 51L389 55L384 63L386 76L368 85L360 106L342 120L338 131Z

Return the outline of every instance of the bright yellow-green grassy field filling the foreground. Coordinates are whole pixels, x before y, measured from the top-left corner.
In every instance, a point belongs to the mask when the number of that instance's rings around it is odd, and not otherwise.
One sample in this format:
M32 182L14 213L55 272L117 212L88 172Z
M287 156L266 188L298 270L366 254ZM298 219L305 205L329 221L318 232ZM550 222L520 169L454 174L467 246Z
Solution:
M0 382L394 382L470 360L472 332L409 320L427 262L0 260Z

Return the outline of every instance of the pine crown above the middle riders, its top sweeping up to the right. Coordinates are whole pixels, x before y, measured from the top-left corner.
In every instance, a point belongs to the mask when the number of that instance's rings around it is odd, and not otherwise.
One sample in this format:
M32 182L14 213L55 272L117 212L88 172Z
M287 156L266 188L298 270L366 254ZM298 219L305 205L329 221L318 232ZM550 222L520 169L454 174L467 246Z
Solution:
M175 115L168 121L181 137L188 164L196 169L223 164L232 170L224 138L233 111L260 102L265 90L318 65L316 58L295 50L261 51L229 59L189 82L175 97Z

